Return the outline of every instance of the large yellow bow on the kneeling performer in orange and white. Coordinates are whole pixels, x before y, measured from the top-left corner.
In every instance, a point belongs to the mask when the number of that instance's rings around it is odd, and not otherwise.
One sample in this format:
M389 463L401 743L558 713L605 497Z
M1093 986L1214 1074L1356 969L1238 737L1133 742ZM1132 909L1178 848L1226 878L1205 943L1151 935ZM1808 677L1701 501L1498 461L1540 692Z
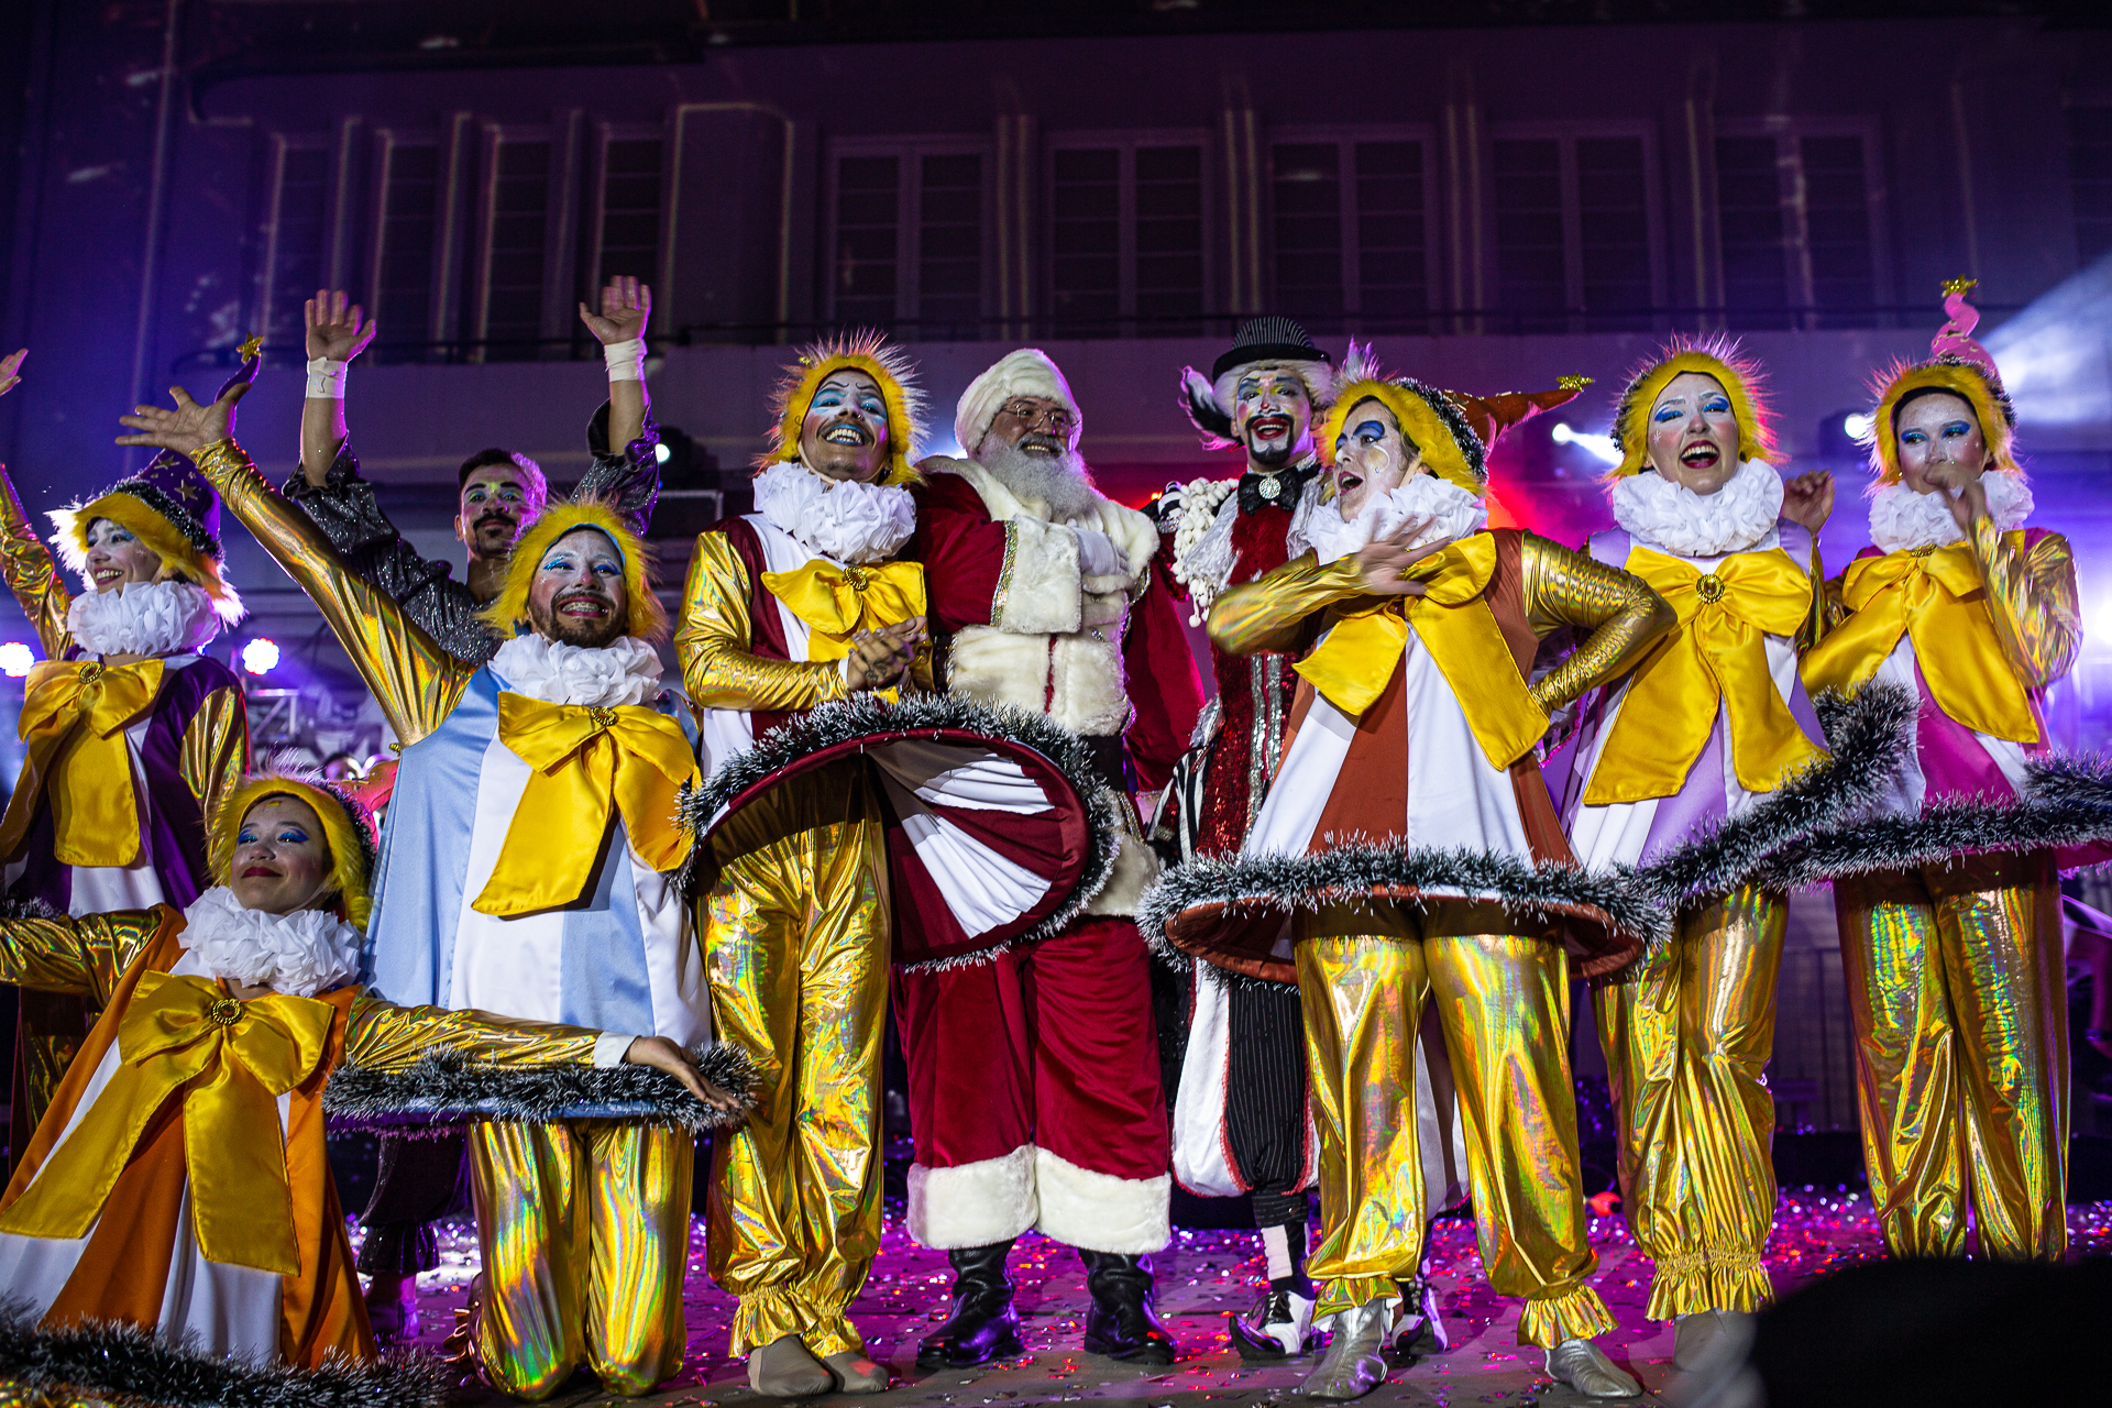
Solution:
M300 1275L279 1096L323 1060L338 1009L228 996L207 977L144 973L118 1022L118 1068L0 1216L0 1233L87 1237L148 1123L184 1102L190 1224L205 1260Z

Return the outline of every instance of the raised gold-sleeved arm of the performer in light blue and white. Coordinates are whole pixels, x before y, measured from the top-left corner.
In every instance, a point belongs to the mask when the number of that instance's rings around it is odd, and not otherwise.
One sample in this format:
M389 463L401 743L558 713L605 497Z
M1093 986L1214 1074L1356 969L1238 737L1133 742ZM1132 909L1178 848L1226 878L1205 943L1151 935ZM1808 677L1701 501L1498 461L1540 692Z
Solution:
M220 401L199 405L177 386L173 412L142 405L122 416L122 424L139 433L118 443L161 445L192 458L228 513L323 612L397 739L416 743L454 711L475 669L435 646L389 593L344 570L308 515L264 483L243 448L228 439L234 403L247 391L247 384L232 386Z

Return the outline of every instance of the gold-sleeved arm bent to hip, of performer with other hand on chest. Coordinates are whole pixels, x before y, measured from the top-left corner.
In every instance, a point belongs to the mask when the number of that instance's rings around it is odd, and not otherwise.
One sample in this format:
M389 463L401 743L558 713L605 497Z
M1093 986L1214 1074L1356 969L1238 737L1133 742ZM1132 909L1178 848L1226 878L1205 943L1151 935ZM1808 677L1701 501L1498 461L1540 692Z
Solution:
M1521 549L1525 616L1533 633L1548 635L1565 625L1588 631L1567 661L1531 686L1533 699L1550 713L1595 684L1635 669L1649 646L1679 623L1643 578L1590 553L1571 553L1531 532Z

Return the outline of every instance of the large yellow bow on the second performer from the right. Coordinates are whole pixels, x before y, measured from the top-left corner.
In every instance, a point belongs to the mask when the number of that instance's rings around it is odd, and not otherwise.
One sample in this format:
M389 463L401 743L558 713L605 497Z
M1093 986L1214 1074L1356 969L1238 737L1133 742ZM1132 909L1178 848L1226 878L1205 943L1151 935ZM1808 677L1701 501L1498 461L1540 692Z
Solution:
M1734 553L1713 572L1639 547L1628 570L1662 595L1679 625L1652 646L1622 695L1599 754L1588 806L1679 792L1730 711L1738 785L1774 792L1823 756L1783 703L1768 669L1768 635L1795 635L1812 610L1812 576L1789 553Z

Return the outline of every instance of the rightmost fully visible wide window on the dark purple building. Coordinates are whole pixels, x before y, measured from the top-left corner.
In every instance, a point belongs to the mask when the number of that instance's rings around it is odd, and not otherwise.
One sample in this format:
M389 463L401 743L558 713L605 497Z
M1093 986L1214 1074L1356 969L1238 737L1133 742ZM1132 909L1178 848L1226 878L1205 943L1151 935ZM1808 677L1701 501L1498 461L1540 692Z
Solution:
M1867 327L1878 308L1861 133L1717 137L1723 304L1734 327Z

